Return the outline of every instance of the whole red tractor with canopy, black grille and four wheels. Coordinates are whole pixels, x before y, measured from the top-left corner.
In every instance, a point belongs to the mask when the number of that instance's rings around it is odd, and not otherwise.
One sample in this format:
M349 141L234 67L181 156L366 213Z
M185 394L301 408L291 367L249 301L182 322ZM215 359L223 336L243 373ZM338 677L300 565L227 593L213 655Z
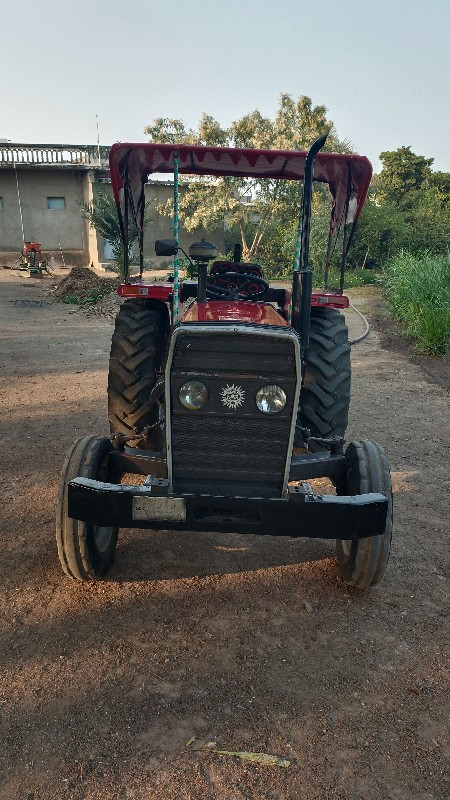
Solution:
M120 527L336 539L344 581L382 577L392 538L384 450L363 440L344 450L350 346L341 313L345 256L369 187L357 155L172 144L115 144L110 169L128 253L140 232L140 275L125 280L108 378L110 437L72 446L61 478L57 543L64 572L102 578ZM173 281L143 281L144 185L174 175ZM214 261L210 242L190 249L197 280L178 276L178 176L303 181L292 288L272 287L256 264ZM339 289L312 291L313 180L329 185L330 243L343 227ZM327 280L327 278L326 278ZM130 483L130 473L135 475ZM127 482L123 476L127 475ZM335 494L308 482L328 478ZM132 479L133 480L133 479Z

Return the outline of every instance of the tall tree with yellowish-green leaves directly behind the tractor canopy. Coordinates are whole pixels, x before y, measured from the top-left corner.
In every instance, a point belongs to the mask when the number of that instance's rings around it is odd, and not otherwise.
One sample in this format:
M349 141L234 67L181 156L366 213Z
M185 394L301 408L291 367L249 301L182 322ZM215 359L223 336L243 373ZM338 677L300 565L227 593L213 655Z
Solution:
M281 95L273 120L255 110L229 128L207 114L196 130L186 128L182 120L162 117L145 128L154 142L290 150L307 150L326 132L327 150L351 152L349 143L338 139L325 106L314 106L309 97L295 101L289 94ZM215 228L225 221L227 238L240 241L245 260L258 259L263 244L271 236L279 238L280 226L298 218L301 188L295 181L194 177L184 185L180 214L186 230ZM170 215L170 201L159 210Z

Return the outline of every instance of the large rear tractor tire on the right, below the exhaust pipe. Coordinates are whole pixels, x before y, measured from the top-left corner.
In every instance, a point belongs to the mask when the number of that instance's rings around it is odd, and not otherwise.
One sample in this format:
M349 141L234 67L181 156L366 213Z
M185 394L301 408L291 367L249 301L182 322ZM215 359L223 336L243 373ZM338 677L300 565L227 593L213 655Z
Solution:
M311 309L307 363L298 426L312 436L344 436L350 406L350 345L345 318L336 309ZM299 432L296 444L301 444ZM320 449L311 443L311 450Z

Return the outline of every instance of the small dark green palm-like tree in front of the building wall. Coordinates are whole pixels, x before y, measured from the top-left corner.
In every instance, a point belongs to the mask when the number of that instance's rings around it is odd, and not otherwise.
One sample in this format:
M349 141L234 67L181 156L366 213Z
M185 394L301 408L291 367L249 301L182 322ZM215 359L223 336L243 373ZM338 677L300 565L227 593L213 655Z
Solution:
M146 203L144 224L149 221L148 212L153 200ZM81 206L83 217L88 220L89 225L94 228L105 241L112 245L112 256L114 272L118 272L120 277L124 277L124 257L125 248L122 241L119 220L117 217L116 203L111 192L100 189L92 203L83 203ZM129 263L136 263L134 259L134 244L138 239L138 230L130 220L128 231L128 258Z

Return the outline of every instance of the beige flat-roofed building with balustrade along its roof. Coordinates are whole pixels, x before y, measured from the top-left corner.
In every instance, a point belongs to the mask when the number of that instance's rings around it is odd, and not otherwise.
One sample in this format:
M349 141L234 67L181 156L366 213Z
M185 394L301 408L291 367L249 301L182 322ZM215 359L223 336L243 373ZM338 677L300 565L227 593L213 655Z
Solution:
M16 144L0 140L0 261L11 265L25 241L40 242L44 256L57 264L107 266L111 247L83 217L82 204L100 190L111 191L108 147L97 145ZM171 238L170 218L156 207L172 195L170 181L149 181L153 199L151 221L144 235L148 267L165 266L154 254L154 241ZM203 229L187 234L181 227L180 244L186 250L193 239L206 236L224 250L224 232Z

